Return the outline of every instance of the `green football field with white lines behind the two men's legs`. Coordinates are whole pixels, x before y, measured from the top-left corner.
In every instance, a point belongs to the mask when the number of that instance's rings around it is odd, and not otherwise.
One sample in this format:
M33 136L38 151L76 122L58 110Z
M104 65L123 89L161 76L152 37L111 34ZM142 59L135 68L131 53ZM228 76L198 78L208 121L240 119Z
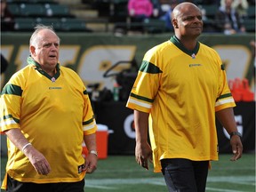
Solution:
M220 160L212 162L206 191L209 192L254 192L255 154L244 154L230 162L230 155L220 155ZM6 159L1 159L1 180L4 176ZM98 169L85 177L85 192L160 192L167 191L161 173L142 169L134 156L108 156L100 159Z

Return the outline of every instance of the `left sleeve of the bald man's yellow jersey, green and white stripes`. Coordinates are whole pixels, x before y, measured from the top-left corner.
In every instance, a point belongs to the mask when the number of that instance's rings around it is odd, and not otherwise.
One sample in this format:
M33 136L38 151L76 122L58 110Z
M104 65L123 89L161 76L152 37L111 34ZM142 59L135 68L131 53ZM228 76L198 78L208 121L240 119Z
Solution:
M150 50L142 60L126 107L150 113L159 88L161 76L162 71L157 66L156 53L154 50Z

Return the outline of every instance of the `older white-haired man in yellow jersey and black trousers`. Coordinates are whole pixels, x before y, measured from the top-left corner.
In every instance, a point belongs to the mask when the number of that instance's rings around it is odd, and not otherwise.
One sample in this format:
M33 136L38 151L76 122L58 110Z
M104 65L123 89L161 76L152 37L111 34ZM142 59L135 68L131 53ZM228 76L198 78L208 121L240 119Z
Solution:
M19 192L82 192L97 167L97 125L80 77L59 63L60 38L36 26L28 66L1 94L1 131L8 162L2 188ZM89 155L82 156L83 140Z

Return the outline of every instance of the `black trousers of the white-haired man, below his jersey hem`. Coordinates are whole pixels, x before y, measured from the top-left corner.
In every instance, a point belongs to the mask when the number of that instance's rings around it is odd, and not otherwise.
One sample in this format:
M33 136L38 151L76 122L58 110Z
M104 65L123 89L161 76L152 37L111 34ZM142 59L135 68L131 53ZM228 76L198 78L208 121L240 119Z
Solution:
M84 180L78 182L60 182L37 184L20 182L7 175L7 192L84 192Z

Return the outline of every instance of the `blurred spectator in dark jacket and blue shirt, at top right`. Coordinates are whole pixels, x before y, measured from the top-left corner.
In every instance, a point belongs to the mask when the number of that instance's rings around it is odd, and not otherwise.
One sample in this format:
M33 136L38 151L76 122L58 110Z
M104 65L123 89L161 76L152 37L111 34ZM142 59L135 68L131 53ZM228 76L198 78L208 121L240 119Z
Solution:
M215 14L216 27L226 35L245 32L242 20L232 4L233 0L225 0L224 5L220 4L219 10Z

